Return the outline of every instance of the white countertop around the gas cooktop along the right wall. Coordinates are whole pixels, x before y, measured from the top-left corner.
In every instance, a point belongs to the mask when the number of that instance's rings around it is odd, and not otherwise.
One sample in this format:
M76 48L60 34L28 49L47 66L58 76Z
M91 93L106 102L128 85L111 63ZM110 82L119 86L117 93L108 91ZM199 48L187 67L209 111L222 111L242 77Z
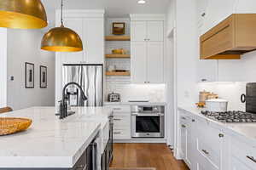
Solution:
M231 133L233 135L239 136L241 139L247 140L247 142L251 144L256 144L256 123L224 123L212 120L206 116L201 115L201 111L204 109L200 109L193 106L178 106L178 109L183 111L188 111L197 117L201 117L202 119L207 120L207 122L211 122L218 127L221 127L222 130L226 133Z

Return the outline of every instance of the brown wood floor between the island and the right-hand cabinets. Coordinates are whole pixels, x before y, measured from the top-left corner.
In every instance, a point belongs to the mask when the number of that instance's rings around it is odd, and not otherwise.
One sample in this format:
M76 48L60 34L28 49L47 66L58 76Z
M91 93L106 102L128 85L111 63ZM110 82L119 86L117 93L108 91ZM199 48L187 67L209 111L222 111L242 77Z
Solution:
M111 167L156 167L156 170L189 170L177 161L166 144L113 144Z

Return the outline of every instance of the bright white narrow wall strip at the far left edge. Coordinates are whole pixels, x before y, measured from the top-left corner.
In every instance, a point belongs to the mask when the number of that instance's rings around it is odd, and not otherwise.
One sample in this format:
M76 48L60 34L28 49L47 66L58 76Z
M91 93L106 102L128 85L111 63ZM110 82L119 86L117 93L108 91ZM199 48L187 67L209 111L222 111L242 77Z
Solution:
M7 105L7 30L0 29L0 108Z

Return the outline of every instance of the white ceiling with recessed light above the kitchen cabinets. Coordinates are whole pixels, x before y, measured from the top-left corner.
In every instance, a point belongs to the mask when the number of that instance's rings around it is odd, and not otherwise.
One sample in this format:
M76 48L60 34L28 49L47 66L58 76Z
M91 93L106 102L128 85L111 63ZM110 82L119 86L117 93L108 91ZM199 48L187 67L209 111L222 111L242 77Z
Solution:
M128 17L128 14L163 14L169 0L146 0L138 4L137 0L64 0L68 9L105 9L107 17ZM61 0L42 0L49 14L60 8Z

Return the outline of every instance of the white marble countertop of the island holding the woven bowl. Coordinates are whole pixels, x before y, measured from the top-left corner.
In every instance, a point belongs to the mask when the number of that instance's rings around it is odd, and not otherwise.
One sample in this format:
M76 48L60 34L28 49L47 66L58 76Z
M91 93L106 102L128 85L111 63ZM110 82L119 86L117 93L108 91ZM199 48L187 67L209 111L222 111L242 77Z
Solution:
M107 107L73 111L73 116L63 120L55 116L55 107L32 107L0 115L32 119L26 131L0 137L0 168L73 167L112 114Z

